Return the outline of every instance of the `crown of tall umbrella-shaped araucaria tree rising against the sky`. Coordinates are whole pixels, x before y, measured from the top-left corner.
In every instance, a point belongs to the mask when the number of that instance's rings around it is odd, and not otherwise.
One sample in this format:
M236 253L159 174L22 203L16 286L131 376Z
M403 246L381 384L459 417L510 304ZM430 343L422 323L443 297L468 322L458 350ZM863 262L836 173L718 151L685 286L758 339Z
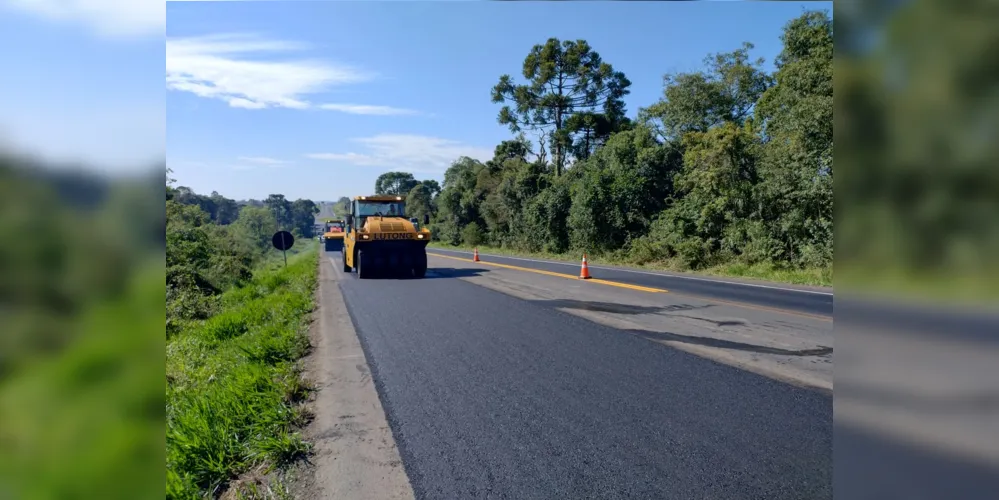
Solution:
M515 85L503 75L493 87L494 103L513 104L500 109L498 120L513 132L526 128L546 137L555 175L561 175L570 151L585 156L624 121L622 98L631 82L585 40L550 38L535 45L524 59L523 75L527 84Z

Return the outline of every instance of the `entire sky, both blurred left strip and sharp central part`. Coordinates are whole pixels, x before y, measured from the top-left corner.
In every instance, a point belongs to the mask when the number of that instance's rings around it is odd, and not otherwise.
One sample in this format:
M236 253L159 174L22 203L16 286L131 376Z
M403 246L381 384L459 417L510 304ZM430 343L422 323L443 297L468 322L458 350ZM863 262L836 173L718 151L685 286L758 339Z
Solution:
M165 156L200 193L335 200L491 157L512 134L489 91L550 37L623 71L634 116L663 74L744 41L772 68L806 8L832 3L0 0L18 48L0 51L0 142L112 171Z

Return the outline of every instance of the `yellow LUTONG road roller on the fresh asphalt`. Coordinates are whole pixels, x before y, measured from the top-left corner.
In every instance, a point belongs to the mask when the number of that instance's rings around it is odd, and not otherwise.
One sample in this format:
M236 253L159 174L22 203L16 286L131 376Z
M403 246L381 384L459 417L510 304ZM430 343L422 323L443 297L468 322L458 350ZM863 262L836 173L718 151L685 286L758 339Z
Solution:
M345 219L344 272L356 270L360 279L384 270L416 278L427 274L430 216L423 216L422 226L416 218L407 218L403 196L358 196Z

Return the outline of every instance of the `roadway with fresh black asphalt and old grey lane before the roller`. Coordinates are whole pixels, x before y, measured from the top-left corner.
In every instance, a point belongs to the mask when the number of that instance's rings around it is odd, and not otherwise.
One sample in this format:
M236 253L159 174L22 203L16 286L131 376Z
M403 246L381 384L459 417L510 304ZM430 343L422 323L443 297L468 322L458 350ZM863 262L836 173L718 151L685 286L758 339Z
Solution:
M417 498L832 497L832 399L807 388L831 384L829 322L435 255L422 280L325 261Z

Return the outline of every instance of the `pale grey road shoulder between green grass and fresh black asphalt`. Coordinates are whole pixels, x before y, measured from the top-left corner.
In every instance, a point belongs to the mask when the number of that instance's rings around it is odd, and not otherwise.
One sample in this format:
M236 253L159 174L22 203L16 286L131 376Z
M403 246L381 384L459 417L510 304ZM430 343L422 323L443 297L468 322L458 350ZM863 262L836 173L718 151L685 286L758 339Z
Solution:
M412 499L409 478L344 306L343 274L320 257L313 351L306 360L316 386L315 419L305 431L314 445L295 488L303 499Z

